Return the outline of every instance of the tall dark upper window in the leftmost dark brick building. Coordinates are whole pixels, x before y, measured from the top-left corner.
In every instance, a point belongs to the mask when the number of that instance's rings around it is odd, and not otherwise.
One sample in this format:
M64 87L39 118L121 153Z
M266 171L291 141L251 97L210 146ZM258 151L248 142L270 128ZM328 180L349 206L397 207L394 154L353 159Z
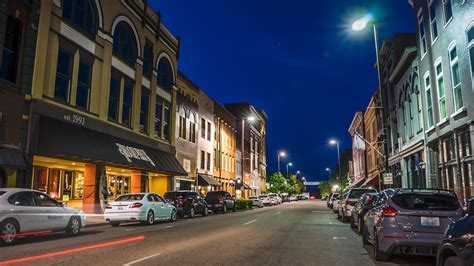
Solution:
M13 83L17 82L21 32L21 21L8 17L3 45L2 65L0 67L0 77Z

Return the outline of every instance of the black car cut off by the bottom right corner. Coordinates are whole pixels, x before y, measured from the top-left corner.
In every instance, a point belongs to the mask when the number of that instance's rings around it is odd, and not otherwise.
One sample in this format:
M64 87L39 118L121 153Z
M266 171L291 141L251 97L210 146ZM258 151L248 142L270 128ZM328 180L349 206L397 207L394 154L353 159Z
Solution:
M436 265L474 265L474 199L468 203L467 215L452 223L438 247Z

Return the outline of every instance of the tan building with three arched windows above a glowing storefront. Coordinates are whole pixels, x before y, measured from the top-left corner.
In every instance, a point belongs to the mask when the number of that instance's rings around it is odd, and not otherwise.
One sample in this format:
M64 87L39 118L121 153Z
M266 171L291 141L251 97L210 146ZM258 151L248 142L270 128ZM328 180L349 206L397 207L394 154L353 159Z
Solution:
M187 174L175 157L179 40L160 21L141 1L41 1L28 187L100 213Z

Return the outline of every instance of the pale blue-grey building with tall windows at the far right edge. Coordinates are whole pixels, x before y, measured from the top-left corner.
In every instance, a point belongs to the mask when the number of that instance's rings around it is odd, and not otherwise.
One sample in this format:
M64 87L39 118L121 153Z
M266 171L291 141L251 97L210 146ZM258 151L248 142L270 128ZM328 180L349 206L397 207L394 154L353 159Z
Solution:
M427 186L474 195L474 3L409 0L426 102Z

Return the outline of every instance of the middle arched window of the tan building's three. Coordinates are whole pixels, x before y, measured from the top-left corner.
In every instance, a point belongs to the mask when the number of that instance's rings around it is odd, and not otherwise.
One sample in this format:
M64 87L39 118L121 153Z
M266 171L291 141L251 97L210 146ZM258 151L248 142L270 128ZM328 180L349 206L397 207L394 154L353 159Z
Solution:
M137 45L132 28L126 22L119 22L114 31L114 55L133 65L137 61Z

